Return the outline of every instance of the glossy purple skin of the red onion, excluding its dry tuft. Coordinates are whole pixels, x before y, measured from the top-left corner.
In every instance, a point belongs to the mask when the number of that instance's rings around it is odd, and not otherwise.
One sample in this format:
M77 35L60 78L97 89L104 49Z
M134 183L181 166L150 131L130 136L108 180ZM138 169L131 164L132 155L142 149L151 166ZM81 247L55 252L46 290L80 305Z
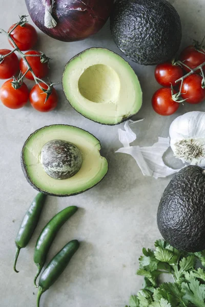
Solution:
M114 0L55 0L52 16L57 25L52 29L45 27L43 0L25 2L34 24L40 30L61 41L77 41L97 33L105 25Z

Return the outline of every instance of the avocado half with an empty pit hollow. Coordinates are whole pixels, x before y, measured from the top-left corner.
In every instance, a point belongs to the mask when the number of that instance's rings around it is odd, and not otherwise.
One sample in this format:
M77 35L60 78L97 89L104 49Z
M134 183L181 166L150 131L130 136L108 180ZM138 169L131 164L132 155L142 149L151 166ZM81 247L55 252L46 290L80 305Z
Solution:
M66 65L64 93L85 117L116 125L134 116L142 104L138 78L128 62L104 48L87 49Z

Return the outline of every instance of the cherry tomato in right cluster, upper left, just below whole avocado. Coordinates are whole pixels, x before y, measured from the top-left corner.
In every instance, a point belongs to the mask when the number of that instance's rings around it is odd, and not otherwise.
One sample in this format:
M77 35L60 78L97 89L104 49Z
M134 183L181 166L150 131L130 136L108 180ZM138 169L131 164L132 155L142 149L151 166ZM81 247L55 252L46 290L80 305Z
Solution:
M175 81L183 76L183 70L179 65L170 62L158 64L155 69L155 79L161 86L175 86Z

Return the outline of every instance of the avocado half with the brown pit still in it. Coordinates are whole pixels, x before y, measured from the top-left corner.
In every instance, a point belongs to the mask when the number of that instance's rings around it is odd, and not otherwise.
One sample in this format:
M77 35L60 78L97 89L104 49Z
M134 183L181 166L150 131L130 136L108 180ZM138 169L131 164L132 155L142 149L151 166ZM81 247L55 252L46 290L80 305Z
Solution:
M53 196L82 193L108 171L100 142L88 131L51 125L36 130L22 149L22 169L34 189Z

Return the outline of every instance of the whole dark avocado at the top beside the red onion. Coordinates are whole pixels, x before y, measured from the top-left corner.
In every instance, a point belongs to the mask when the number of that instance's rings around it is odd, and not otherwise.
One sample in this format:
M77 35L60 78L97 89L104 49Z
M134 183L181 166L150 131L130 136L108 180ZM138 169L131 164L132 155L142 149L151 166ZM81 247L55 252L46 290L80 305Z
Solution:
M118 48L144 65L172 59L181 42L180 17L166 0L117 0L110 28Z

